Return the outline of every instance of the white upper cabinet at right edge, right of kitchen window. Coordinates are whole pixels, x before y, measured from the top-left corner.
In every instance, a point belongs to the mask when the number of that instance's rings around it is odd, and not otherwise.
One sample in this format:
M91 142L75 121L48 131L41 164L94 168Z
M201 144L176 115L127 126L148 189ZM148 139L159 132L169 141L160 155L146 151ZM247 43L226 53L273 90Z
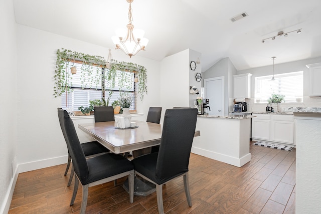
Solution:
M321 63L306 65L310 74L310 97L321 97Z

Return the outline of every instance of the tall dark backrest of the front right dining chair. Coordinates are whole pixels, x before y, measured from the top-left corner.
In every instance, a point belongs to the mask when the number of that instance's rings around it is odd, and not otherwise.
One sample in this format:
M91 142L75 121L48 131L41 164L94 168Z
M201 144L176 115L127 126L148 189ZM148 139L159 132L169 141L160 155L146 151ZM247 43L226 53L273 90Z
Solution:
M196 121L196 108L166 110L155 172L160 183L189 170Z

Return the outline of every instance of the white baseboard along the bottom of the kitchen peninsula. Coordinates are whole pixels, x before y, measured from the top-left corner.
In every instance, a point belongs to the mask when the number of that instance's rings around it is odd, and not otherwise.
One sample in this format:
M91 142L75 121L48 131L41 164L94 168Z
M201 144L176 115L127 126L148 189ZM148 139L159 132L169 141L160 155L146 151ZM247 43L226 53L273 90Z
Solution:
M247 163L251 160L251 153L248 153L241 158L235 158L235 157L231 157L231 156L224 155L221 153L201 149L201 148L194 147L194 146L192 146L191 152L194 154L202 155L204 157L218 160L218 161L221 161L221 162L233 165L233 166L237 166L237 167L241 167L245 163Z

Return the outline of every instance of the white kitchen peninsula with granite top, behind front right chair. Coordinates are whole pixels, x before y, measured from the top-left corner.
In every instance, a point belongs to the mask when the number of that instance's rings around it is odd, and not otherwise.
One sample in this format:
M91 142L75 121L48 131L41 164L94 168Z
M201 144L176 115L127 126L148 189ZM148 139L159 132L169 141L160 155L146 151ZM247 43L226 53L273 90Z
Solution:
M255 116L199 115L191 152L241 167L251 160L250 118Z

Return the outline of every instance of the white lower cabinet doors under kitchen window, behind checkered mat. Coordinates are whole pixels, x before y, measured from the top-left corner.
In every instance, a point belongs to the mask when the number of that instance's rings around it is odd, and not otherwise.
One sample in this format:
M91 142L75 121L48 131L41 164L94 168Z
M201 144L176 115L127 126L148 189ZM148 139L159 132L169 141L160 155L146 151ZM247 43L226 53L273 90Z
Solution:
M294 116L252 114L252 138L294 144Z

